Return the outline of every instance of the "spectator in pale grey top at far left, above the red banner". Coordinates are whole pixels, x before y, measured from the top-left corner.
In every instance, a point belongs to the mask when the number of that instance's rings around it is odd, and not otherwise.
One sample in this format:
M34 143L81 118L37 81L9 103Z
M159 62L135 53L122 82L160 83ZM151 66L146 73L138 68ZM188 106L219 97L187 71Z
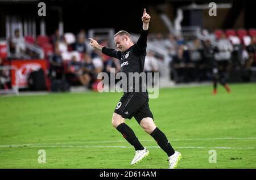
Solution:
M19 29L15 29L14 38L11 39L10 49L14 49L15 57L22 58L25 53L26 44L22 36L20 36Z

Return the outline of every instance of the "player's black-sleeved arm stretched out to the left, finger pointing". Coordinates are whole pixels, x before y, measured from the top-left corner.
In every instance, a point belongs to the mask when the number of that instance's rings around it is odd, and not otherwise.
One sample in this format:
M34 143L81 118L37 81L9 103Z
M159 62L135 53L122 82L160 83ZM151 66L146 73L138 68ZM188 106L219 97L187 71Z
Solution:
M89 38L89 40L90 40L90 46L92 46L94 49L101 50L101 52L103 54L106 54L106 55L108 55L110 57L121 59L121 55L122 55L121 51L101 46L93 38Z

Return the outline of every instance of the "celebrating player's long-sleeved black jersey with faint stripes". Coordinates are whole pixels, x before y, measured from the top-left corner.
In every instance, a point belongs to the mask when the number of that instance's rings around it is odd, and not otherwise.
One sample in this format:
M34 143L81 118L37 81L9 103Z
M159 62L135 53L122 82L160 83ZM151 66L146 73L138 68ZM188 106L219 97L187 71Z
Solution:
M141 36L136 44L131 46L125 52L114 50L112 48L102 48L102 53L120 60L121 72L126 74L126 87L123 87L124 92L139 92L143 96L148 97L145 84L142 84L142 79L133 78L129 72L141 74L144 70L144 61L146 57L146 42L148 31L142 29ZM124 81L122 79L124 84ZM139 89L135 89L138 87Z

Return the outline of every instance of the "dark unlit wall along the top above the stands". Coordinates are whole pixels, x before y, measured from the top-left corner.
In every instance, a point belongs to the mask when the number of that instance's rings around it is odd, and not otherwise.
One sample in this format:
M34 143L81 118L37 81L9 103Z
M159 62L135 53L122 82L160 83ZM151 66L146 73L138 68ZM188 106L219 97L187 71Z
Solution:
M5 16L7 14L33 15L39 22L38 3L41 1L0 1L0 37L5 37ZM59 11L62 12L65 32L78 32L81 28L115 28L116 31L125 29L138 33L141 29L141 16L143 8L152 13L150 24L151 32L167 32L159 17L159 6L168 14L171 20L176 16L180 6L196 2L205 4L211 1L177 1L177 0L137 0L137 1L71 1L55 0L42 1L46 3L46 31L51 35L57 28L60 20ZM216 3L232 3L233 7L227 10L217 10L217 17L209 17L204 11L184 11L183 25L202 25L203 28L255 28L256 1L222 0ZM237 20L239 19L239 21ZM238 22L238 23L237 23ZM39 24L39 23L38 23ZM39 26L37 27L39 31ZM38 32L39 33L39 32Z

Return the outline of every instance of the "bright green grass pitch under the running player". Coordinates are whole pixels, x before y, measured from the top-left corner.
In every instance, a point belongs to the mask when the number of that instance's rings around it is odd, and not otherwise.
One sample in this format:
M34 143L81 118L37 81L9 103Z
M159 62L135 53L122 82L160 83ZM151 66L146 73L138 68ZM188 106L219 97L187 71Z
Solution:
M211 85L164 88L150 100L156 125L182 154L177 168L256 168L256 84L230 87L216 96ZM126 123L150 155L130 166L134 148L111 125L121 95L0 97L0 168L168 168L166 153L134 118Z

